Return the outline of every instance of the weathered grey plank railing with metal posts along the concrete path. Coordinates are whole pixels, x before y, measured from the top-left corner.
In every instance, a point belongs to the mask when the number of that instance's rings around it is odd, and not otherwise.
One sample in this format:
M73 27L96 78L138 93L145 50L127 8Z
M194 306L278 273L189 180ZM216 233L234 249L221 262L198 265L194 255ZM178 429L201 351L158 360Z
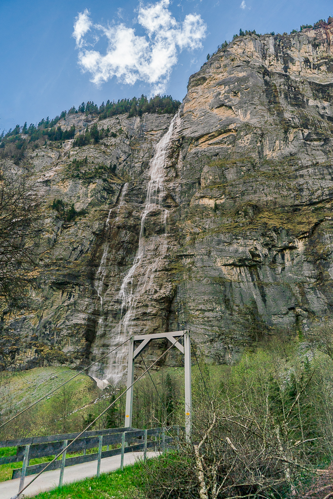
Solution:
M153 428L150 430L140 430L136 428L110 428L108 430L88 431L82 435L82 438L76 440L70 448L71 453L81 452L81 456L66 458L66 451L62 454L61 459L54 461L48 468L50 470L60 469L59 487L62 486L64 468L76 464L87 463L97 460L97 473L99 476L100 462L103 458L111 456L121 456L120 467L123 469L124 454L143 450L144 460L146 460L147 449L161 448L162 453L165 452L166 444L173 441L172 437L166 437L165 432L173 427ZM177 433L179 430L177 429ZM23 487L24 478L29 475L34 475L43 470L46 463L29 466L30 459L54 456L59 454L71 440L74 440L79 433L68 433L62 435L48 435L46 437L31 437L15 440L0 441L2 447L17 447L14 456L5 456L0 458L0 465L8 463L19 463L23 461L22 468L16 468L12 471L12 479L20 478L19 491ZM148 437L155 436L155 440L148 440ZM162 436L157 440L158 436ZM109 449L110 445L121 444L118 449ZM132 444L132 445L129 445ZM107 450L103 451L103 446L107 446ZM87 449L98 447L98 452L86 454Z

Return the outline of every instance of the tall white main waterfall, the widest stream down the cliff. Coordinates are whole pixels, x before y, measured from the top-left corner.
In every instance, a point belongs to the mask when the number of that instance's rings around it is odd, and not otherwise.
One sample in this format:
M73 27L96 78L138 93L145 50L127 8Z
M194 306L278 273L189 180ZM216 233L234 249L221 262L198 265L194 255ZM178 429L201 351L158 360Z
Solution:
M133 265L123 278L120 286L118 299L120 303L120 320L116 327L112 330L111 341L109 349L128 338L132 333L132 321L135 312L135 306L137 299L140 295L145 293L152 285L154 279L154 272L158 267L158 263L165 256L167 252L167 240L166 240L166 225L167 217L169 211L162 207L162 197L165 189L163 187L164 183L164 167L166 162L166 156L168 152L168 147L170 140L175 129L178 128L180 122L179 113L172 119L167 133L161 138L161 140L156 145L155 154L150 162L149 176L150 180L148 182L146 200L144 205L144 210L141 215L141 226L139 235L138 250L136 252ZM149 264L144 267L143 278L139 279L136 289L134 289L134 277L137 271L143 267L143 259L145 256L145 221L147 215L153 210L161 211L161 223L164 226L164 234L159 241L159 256ZM105 250L104 250L105 251ZM107 251L107 250L106 250ZM104 254L104 252L103 252ZM103 259L103 258L102 258ZM101 266L105 266L105 262ZM142 270L142 269L141 269ZM102 275L102 271L100 273ZM97 352L96 352L97 353ZM128 345L125 344L120 349L111 353L108 357L108 364L104 369L103 381L97 380L97 375L100 373L100 367L95 365L93 372L89 373L96 381L98 386L101 388L105 387L108 382L112 381L114 384L119 383L127 370L127 355L128 355Z

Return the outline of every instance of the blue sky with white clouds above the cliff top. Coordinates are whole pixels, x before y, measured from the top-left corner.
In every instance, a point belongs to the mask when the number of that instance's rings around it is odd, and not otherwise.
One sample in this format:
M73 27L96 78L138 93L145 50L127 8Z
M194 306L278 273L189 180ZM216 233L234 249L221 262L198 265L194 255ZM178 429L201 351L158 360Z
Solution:
M0 131L82 101L158 90L182 100L240 28L290 32L329 15L332 0L0 0Z

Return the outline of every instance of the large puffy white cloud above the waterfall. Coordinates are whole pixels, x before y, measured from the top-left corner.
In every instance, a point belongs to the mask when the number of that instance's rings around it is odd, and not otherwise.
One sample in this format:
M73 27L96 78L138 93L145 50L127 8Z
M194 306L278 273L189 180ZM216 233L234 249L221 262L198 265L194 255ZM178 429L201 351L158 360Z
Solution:
M188 14L179 23L168 9L170 0L160 0L138 9L138 23L146 35L138 36L135 29L118 25L93 24L87 9L75 19L73 36L79 49L78 62L91 74L96 85L115 76L120 82L134 84L137 80L150 83L152 93L165 91L178 51L202 48L206 24L198 14ZM86 33L94 29L93 37L101 32L108 41L105 54L84 48Z

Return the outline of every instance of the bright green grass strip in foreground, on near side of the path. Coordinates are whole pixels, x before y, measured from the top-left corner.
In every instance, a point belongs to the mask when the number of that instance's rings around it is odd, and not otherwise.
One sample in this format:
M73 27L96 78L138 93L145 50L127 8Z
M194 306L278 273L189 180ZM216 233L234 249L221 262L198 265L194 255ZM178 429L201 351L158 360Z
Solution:
M61 489L43 492L35 499L145 499L141 489L142 465L137 463L99 478L86 478L64 485Z

